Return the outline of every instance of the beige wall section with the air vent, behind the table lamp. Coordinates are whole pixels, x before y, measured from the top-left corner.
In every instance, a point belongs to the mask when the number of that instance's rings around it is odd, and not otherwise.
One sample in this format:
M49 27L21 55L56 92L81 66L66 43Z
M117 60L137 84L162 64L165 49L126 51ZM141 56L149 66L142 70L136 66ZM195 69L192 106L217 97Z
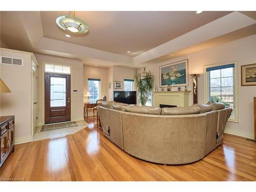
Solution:
M31 54L2 49L0 55L24 61L24 66L0 64L0 77L11 90L11 93L0 94L0 115L15 115L15 140L29 140L32 137Z

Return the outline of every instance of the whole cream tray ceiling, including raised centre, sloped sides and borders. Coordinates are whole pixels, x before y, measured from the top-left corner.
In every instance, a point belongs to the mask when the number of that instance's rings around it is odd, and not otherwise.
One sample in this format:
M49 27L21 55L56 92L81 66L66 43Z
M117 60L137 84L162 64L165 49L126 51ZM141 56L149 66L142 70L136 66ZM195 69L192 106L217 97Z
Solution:
M62 14L71 12L2 11L0 38L10 49L138 68L256 34L255 11L89 11L76 16L90 32L68 38L55 23Z

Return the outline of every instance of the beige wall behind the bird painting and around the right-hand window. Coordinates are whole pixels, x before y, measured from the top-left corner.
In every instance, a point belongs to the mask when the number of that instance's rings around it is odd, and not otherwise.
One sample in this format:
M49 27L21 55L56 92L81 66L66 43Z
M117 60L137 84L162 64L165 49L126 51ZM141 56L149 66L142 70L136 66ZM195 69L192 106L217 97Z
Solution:
M182 59L188 59L188 73L200 73L198 78L198 102L204 102L204 66L215 63L238 61L239 65L239 123L228 122L226 128L233 134L252 136L253 134L253 96L256 96L255 86L241 87L241 65L256 63L256 35L234 40L211 49L170 59L161 63L146 66L155 78L155 85L159 88L159 66L166 65ZM154 85L154 88L155 88ZM182 88L184 89L184 88ZM175 89L173 89L175 90ZM193 90L193 81L189 77L189 88ZM189 104L193 104L193 94L190 93ZM233 132L235 131L235 132ZM245 132L245 133L243 133ZM249 134L249 135L248 135Z

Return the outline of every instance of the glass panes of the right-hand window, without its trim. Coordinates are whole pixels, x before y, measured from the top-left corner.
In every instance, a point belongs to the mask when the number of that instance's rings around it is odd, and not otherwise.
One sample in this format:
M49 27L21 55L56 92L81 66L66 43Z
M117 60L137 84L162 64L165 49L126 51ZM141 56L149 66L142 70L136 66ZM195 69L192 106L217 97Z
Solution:
M210 102L223 102L226 108L233 109L233 73L233 67L209 71ZM234 116L234 111L232 111L231 116Z

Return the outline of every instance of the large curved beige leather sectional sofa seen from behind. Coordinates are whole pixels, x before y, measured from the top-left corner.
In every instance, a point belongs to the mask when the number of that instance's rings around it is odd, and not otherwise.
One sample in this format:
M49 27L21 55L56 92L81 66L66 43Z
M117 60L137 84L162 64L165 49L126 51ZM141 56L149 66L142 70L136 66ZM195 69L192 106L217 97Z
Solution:
M115 102L97 106L105 137L134 157L162 164L195 162L222 144L232 112L224 108L223 103L163 109Z

